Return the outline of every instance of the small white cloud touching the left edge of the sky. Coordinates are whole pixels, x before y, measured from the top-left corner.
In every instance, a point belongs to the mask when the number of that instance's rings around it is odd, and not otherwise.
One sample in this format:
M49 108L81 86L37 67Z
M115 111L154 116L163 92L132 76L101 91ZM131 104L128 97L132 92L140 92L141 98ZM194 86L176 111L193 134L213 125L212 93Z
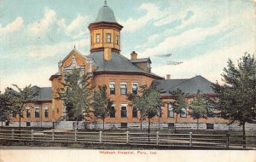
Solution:
M0 24L0 36L3 34L8 34L10 32L17 32L23 26L23 19L17 17L14 21L10 22L7 26L2 27Z

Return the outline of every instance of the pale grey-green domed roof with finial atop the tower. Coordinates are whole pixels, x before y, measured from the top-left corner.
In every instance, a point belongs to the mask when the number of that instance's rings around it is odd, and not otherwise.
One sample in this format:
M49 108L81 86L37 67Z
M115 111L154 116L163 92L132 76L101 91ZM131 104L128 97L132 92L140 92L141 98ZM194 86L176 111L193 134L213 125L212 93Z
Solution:
M116 22L113 10L110 9L105 2L104 6L99 10L95 22Z

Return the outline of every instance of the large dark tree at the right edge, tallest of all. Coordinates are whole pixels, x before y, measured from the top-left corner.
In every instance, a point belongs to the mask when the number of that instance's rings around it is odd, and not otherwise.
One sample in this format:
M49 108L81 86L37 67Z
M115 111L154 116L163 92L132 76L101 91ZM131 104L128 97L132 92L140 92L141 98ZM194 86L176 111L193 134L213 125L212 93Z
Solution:
M237 67L228 61L222 74L224 85L214 84L219 95L220 116L230 119L231 124L239 121L245 142L245 124L255 121L256 108L256 61L254 55L245 54L238 60Z

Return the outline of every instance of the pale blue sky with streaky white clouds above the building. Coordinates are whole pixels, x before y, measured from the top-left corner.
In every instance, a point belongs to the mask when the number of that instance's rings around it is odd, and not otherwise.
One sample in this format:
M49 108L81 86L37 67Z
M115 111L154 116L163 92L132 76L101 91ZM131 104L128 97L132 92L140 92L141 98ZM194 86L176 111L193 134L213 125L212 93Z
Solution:
M90 55L88 26L103 0L0 0L0 90L51 86L74 45ZM254 2L255 3L255 2ZM228 59L255 53L253 0L108 0L121 31L121 55L150 57L161 77L201 75L221 83ZM170 57L160 55L172 54ZM167 61L183 62L167 65Z

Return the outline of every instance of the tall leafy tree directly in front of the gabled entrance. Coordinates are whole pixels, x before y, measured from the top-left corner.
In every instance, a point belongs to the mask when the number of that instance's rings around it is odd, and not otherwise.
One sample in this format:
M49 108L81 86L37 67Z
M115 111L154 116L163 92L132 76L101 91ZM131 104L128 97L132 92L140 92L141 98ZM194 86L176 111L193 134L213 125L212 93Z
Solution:
M62 87L57 90L57 99L62 100L67 107L68 117L77 122L82 119L83 113L88 113L91 101L90 76L74 68L64 74Z

